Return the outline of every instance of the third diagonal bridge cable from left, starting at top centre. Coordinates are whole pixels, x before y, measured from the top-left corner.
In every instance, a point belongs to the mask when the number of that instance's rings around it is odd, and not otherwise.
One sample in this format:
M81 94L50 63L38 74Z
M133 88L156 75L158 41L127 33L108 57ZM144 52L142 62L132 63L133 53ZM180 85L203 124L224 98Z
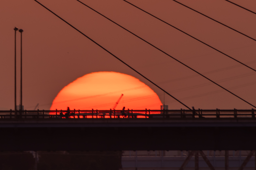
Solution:
M78 0L77 0L77 1L78 1ZM123 1L125 1L125 0L123 0ZM79 1L79 2L80 2L80 1ZM244 65L244 66L246 66L246 67L248 67L248 68L250 68L251 70L253 70L253 71L255 71L255 72L256 72L256 70L255 70L255 69L253 69L253 68L249 67L248 65L246 65L246 64L244 64L244 63L242 63L242 62L238 61L237 59L235 59L235 58L233 58L233 57L231 57L231 56L229 56L229 55L227 55L227 54L225 54L225 53L221 52L220 50L218 50L218 49L216 49L216 48L214 48L214 47L212 47L212 46L210 46L210 45L206 44L205 42L203 42L203 41L201 41L201 40L199 40L199 39L197 39L197 38L193 37L192 35L190 35L190 34L188 34L188 33L184 32L184 31L182 31L182 30L178 29L177 27L174 27L173 25L169 24L168 22L165 22L164 20L162 20L162 19L160 19L160 18L158 18L158 17L156 17L156 16L154 16L154 15L152 15L152 14L148 13L147 11L145 11L145 10L143 10L143 9L141 9L141 8L139 8L139 7L137 7L136 5L134 5L134 4L132 4L132 3L128 2L128 1L125 1L125 2L127 2L128 4L130 4L130 5L132 5L132 6L136 7L136 8L138 8L138 9L140 9L140 10L142 10L143 12L145 12L145 13L147 13L147 14L151 15L152 17L154 17L154 18L156 18L156 19L158 19L158 20L160 20L160 21L162 21L162 22L166 23L167 25L169 25L169 26L171 26L171 27L173 27L173 28L175 28L175 29L179 30L180 32L183 32L184 34L188 35L189 37L191 37L191 38L193 38L193 39L195 39L195 40L197 40L197 41L199 41L199 42L201 42L201 43L203 43L203 44L207 45L208 47L210 47L210 48L212 48L212 49L214 49L214 50L218 51L219 53L221 53L221 54L223 54L223 55L226 55L227 57L229 57L229 58L231 58L231 59L235 60L236 62L238 62L238 63L240 63L240 64L242 64L242 65ZM175 1L175 2L176 2L176 1ZM84 4L84 5L85 5L85 4ZM86 5L86 6L87 6L87 5ZM88 6L87 6L87 7L88 7ZM90 7L89 7L89 8L90 8ZM91 9L92 9L92 8L91 8ZM94 10L94 11L95 11L95 10ZM96 12L97 12L97 11L96 11ZM98 12L97 12L97 13L98 13Z

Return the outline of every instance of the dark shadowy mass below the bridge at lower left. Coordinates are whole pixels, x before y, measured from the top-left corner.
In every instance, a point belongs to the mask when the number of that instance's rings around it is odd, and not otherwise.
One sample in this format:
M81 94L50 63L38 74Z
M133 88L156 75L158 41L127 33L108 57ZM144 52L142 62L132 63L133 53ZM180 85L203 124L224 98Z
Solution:
M121 151L37 152L38 170L118 170ZM28 152L0 152L0 170L34 170L36 160Z

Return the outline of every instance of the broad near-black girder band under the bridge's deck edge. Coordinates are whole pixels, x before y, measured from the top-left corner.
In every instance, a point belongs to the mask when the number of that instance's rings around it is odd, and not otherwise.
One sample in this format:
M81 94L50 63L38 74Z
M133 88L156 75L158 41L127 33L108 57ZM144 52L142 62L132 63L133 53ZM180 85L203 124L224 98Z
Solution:
M0 134L0 151L256 150L255 127L2 127Z

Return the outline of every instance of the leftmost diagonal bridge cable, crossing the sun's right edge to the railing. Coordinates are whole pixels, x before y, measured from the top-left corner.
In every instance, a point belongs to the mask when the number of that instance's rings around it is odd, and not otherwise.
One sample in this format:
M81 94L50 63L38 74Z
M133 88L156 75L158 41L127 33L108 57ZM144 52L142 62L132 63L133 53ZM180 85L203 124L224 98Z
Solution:
M48 11L50 11L52 14L54 14L55 16L57 16L59 19L61 19L62 21L66 22L70 27L74 28L75 30L77 30L79 33L81 33L83 36L85 36L86 38L88 38L89 40L91 40L92 42L94 42L95 44L97 44L98 46L100 46L103 50L105 50L106 52L108 52L109 54L111 54L112 56L114 56L116 59L118 59L119 61L121 61L123 64L125 64L126 66L128 66L129 68L131 68L133 71L135 71L136 73L138 73L139 75L141 75L143 78L145 78L146 80L148 80L149 82L151 82L152 84L154 84L156 87L158 87L159 89L161 89L163 92L165 92L166 94L168 94L169 96L171 96L173 99L175 99L176 101L178 101L180 104L182 104L183 106L187 107L189 110L191 110L191 108L189 108L187 105L185 105L184 103L182 103L181 101L179 101L178 99L176 99L174 96L172 96L171 94L169 94L167 91L165 91L164 89L162 89L161 87L157 86L157 84L155 84L154 82L152 82L150 79L146 78L145 76L143 76L140 72L138 72L137 70L135 70L134 68L132 68L131 66L129 66L128 64L126 64L123 60L121 60L120 58L118 58L117 56L115 56L114 54L112 54L110 51L108 51L106 48L104 48L103 46L101 46L100 44L98 44L97 42L95 42L94 40L92 40L91 38L89 38L87 35L85 35L84 33L82 33L81 31L79 31L77 28L75 28L74 26L72 26L70 23L68 23L66 20L62 19L60 16L58 16L57 14L55 14L54 12L52 12L50 9L48 9L46 6L42 5L40 2L34 0L35 2L37 2L38 4L40 4L42 7L44 7L45 9L47 9ZM254 106L255 107L255 106Z

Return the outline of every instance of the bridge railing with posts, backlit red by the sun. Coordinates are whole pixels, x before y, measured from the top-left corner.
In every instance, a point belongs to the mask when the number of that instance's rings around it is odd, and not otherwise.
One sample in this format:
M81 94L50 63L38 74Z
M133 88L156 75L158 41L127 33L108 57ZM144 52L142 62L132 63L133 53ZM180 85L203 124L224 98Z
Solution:
M0 111L0 119L49 118L150 118L150 119L243 119L255 118L255 110L55 110Z

